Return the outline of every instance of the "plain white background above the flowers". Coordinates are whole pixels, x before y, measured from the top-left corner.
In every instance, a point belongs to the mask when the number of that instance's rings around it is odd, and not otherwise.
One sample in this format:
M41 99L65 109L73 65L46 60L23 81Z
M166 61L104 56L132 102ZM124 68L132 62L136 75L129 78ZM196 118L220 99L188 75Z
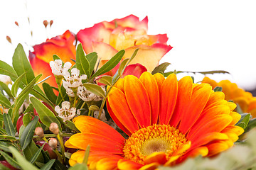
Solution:
M28 54L31 45L61 35L65 30L78 33L94 23L112 21L129 14L141 20L148 16L149 34L167 33L168 44L174 48L161 62L171 63L169 71L223 69L230 74L211 77L218 81L230 79L246 90L256 89L254 0L1 1L0 60L11 64L18 42L24 45ZM52 28L46 30L43 20L53 20ZM6 35L11 37L12 45L7 42ZM203 78L201 74L196 74L196 77Z

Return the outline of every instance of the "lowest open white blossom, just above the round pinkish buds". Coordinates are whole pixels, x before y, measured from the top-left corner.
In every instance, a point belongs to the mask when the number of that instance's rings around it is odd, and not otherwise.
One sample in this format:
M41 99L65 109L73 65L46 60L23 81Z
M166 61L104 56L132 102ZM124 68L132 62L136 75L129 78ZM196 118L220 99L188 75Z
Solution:
M68 101L63 101L60 106L55 106L55 111L58 116L63 119L63 122L71 120L75 116L76 108L70 108L70 103Z

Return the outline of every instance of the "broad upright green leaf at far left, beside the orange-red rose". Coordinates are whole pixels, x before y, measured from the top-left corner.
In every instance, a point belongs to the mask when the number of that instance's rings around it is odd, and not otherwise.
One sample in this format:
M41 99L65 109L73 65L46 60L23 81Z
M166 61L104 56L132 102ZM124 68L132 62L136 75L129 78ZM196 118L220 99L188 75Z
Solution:
M31 64L28 62L28 57L26 57L21 44L18 44L15 49L12 64L18 76L26 72L25 77L22 79L24 84L29 84L35 78Z

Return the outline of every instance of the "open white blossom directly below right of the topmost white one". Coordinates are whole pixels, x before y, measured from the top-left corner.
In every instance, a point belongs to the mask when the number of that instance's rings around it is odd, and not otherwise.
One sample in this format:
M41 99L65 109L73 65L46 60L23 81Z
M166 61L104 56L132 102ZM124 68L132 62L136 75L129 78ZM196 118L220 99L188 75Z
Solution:
M68 71L63 72L63 76L65 78L65 80L63 80L63 86L75 89L78 86L82 85L82 79L87 79L87 76L85 74L79 76L79 74L80 71L76 68L71 69L71 75Z

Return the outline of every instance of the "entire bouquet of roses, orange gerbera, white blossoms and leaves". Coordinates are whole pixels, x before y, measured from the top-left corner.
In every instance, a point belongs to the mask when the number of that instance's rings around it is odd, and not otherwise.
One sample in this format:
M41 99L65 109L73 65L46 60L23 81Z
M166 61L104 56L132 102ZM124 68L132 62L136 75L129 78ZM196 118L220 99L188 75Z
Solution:
M0 61L0 168L255 169L256 98L166 72L172 47L147 23L67 30Z

